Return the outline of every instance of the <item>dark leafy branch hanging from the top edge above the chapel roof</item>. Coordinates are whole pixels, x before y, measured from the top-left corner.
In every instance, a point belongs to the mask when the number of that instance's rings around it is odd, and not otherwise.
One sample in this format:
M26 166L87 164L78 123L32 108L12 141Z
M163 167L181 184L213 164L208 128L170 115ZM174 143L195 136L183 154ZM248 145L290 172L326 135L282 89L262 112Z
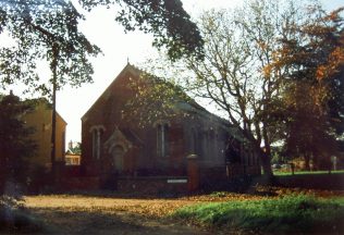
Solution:
M98 4L119 3L122 10L115 20L125 30L151 33L155 37L152 45L158 49L165 48L173 61L182 57L204 57L204 40L181 0L79 0L79 3L88 10Z

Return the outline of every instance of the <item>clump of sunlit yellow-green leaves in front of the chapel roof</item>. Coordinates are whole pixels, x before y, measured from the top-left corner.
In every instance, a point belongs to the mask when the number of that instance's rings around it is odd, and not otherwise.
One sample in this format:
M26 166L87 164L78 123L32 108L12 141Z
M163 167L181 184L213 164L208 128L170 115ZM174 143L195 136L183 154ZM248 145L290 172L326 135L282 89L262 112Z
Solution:
M183 120L188 115L175 108L185 102L196 104L173 81L144 71L128 86L134 97L125 103L122 115L140 127L161 120Z

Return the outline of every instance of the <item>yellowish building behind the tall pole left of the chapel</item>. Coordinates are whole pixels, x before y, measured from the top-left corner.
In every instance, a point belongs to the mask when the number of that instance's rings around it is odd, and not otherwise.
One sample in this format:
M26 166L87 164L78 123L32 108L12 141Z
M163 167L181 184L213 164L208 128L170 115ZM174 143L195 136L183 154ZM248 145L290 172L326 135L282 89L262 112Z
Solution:
M51 168L51 119L52 109L49 102L41 98L35 100L35 110L23 118L27 126L34 127L32 138L37 145L36 154L29 161L33 166ZM56 161L63 162L65 154L66 122L57 113Z

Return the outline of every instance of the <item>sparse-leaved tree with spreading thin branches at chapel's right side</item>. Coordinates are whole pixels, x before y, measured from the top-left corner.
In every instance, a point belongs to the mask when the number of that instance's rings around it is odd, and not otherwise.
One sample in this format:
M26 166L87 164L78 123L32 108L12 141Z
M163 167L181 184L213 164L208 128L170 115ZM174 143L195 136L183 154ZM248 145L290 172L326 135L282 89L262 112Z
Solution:
M281 135L279 91L281 77L265 70L279 48L279 36L297 16L292 2L248 1L232 12L205 13L199 21L205 60L185 57L180 63L152 69L153 74L180 78L176 84L196 99L208 100L239 129L259 153L271 175L270 145ZM159 63L156 63L160 69ZM175 73L167 72L175 69ZM157 92L159 94L159 92Z

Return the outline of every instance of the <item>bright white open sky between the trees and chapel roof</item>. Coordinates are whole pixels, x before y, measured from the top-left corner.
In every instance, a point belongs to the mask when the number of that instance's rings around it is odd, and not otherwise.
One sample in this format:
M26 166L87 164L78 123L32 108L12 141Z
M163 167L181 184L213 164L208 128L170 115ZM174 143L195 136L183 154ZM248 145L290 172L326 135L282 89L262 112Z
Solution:
M327 10L344 7L343 0L321 0ZM229 9L242 0L182 0L184 9L196 18L202 11ZM140 32L125 34L123 27L114 21L114 11L96 8L90 13L83 12L86 21L81 30L95 45L101 48L103 55L91 59L95 74L93 84L79 88L64 87L57 94L57 110L67 122L66 141L81 141L81 118L111 84L127 62L139 64L156 53L151 47L151 35ZM41 69L40 74L49 74ZM46 75L47 76L47 75ZM15 89L14 89L15 90Z

